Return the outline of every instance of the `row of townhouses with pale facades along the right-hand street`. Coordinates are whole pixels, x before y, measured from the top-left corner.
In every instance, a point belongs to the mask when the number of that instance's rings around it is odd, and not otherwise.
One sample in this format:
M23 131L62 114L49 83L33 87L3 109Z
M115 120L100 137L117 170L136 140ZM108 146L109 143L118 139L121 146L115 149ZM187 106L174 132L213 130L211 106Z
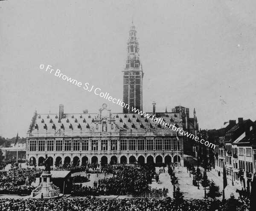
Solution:
M252 120L229 120L217 130L200 131L201 138L214 143L215 149L206 148L208 162L219 177L223 176L223 166L227 172L229 185L250 191L253 174L256 173L256 123ZM204 157L203 147L195 145L197 157Z

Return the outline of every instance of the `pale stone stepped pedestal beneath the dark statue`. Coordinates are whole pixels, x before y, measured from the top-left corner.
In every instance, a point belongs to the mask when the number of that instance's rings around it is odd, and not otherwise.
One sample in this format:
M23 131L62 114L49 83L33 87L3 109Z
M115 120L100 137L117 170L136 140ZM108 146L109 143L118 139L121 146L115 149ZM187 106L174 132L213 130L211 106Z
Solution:
M51 182L51 176L52 174L49 171L44 171L41 175L42 182L38 185L35 190L32 191L31 197L32 198L57 198L62 197L63 194L61 194L60 188L53 185Z

